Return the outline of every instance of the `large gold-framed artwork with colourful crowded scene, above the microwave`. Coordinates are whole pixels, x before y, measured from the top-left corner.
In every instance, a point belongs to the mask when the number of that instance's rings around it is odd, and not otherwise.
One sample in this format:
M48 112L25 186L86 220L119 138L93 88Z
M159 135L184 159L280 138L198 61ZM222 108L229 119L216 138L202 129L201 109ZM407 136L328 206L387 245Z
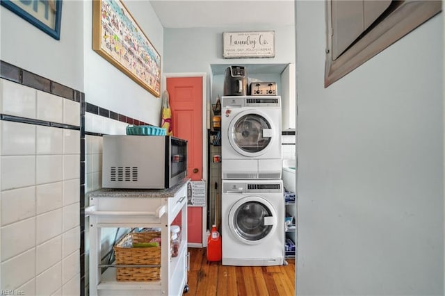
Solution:
M160 97L161 56L120 0L92 1L92 49Z

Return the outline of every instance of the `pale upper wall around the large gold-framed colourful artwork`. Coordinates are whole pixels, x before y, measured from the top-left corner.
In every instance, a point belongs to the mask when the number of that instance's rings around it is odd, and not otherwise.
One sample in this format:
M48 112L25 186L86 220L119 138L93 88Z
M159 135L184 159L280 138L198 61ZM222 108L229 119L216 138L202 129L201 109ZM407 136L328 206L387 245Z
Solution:
M149 1L123 3L161 55L163 67L163 26L154 13L152 4ZM161 99L154 97L92 50L92 2L85 1L83 9L86 101L149 124L161 124Z

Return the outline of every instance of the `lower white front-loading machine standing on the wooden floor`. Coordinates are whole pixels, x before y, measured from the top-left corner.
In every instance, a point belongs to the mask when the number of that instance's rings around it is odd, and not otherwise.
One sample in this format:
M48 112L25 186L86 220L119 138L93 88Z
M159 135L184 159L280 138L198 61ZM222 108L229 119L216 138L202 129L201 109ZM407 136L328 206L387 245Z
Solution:
M282 180L223 180L222 189L223 265L282 265Z

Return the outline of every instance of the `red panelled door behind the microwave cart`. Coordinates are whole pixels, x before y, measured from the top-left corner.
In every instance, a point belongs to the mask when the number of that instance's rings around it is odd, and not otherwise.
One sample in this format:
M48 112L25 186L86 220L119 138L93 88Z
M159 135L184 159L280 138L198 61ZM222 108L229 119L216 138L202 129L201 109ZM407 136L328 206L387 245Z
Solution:
M202 180L202 77L167 79L173 135L188 140L187 176ZM202 244L202 207L188 207L188 242Z

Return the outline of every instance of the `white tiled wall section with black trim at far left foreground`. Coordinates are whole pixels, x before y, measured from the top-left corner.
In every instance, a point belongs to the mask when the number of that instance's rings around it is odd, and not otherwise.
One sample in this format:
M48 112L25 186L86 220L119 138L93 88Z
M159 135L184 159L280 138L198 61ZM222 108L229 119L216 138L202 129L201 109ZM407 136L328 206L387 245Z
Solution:
M81 295L81 93L1 66L1 291Z

